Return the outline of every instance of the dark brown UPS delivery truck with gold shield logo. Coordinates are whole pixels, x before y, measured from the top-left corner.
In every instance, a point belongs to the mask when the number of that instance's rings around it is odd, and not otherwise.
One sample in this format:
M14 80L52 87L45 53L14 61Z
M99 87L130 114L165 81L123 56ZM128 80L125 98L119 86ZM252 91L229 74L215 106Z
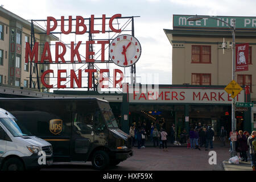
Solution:
M97 98L1 98L28 131L52 144L53 162L92 162L96 169L133 155L108 101Z

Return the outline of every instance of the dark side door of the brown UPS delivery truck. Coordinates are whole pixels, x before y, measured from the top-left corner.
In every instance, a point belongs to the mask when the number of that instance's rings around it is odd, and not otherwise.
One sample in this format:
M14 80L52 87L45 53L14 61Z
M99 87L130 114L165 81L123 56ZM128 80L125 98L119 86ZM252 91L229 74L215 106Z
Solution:
M93 144L93 113L73 113L71 160L84 160Z

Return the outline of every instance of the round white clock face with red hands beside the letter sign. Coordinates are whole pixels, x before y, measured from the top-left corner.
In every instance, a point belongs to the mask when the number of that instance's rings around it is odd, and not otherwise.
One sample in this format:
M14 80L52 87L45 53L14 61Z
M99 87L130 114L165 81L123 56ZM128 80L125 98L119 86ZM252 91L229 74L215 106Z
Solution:
M109 46L109 56L119 67L130 67L141 56L141 44L131 35L119 35Z

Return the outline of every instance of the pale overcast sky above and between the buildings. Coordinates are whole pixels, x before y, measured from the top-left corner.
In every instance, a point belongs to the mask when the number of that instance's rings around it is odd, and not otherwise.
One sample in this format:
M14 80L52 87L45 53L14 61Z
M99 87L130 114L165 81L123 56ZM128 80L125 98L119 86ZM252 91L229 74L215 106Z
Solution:
M137 62L137 75L159 73L159 84L171 84L171 44L163 29L172 29L173 14L256 16L256 1L238 0L22 0L6 1L4 8L24 19L60 18L81 15L84 18L141 16L135 19L135 37L141 42L142 55Z

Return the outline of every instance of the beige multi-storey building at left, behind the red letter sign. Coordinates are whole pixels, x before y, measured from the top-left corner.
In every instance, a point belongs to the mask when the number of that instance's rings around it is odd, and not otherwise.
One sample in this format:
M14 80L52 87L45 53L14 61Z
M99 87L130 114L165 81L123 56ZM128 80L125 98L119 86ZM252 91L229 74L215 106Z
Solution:
M35 41L39 45L51 40L54 36L46 36L42 28L34 26ZM16 88L30 88L30 72L32 72L31 88L38 89L36 79L36 65L25 63L26 42L31 42L31 22L0 7L0 86L14 86ZM43 46L39 46L39 57ZM49 64L37 64L38 75L49 69ZM46 82L49 82L46 78ZM40 84L40 88L42 88ZM40 91L46 91L40 89Z

